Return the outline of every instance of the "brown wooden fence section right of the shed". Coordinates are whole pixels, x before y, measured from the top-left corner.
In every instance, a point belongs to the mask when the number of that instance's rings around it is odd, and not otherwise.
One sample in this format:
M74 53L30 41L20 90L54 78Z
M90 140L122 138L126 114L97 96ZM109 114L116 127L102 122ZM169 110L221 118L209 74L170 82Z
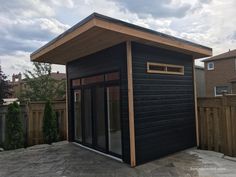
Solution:
M236 157L236 95L198 98L200 148Z

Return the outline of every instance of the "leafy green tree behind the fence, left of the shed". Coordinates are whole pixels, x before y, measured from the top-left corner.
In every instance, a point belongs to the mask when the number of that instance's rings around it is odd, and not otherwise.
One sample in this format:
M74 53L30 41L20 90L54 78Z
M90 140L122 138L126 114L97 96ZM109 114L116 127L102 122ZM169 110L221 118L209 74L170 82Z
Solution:
M65 96L66 82L51 77L51 64L33 63L33 71L24 73L26 88L20 94L20 100L47 101L62 99Z

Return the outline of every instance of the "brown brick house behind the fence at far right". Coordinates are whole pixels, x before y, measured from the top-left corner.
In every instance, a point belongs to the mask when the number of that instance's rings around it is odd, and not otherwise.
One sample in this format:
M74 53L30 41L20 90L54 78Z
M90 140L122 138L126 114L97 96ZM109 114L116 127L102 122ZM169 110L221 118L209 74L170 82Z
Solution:
M236 49L208 58L205 64L206 96L236 93Z

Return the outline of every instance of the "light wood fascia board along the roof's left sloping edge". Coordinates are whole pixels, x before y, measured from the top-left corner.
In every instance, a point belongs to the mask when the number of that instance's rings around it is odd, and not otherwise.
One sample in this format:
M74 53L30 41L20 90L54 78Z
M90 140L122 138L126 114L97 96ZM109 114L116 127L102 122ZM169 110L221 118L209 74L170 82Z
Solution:
M71 33L68 33L64 37L58 39L57 41L55 41L51 45L43 48L39 52L36 52L35 54L34 53L31 54L31 56L30 56L31 61L36 60L37 58L39 58L40 56L46 54L47 52L55 49L56 47L59 47L60 45L70 41L71 39L73 39L76 36L82 34L83 32L91 29L92 27L94 27L94 25L95 25L95 19L92 19L92 20L88 21L87 23L85 23L82 26L80 26L79 28L77 28L75 31L72 31Z

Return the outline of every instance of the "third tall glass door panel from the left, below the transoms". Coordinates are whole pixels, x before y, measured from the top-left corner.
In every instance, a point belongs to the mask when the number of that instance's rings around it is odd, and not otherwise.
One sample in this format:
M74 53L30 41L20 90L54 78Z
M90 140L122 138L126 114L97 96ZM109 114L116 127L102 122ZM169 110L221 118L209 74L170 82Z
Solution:
M106 150L106 118L104 87L96 87L94 92L95 138L97 148Z

